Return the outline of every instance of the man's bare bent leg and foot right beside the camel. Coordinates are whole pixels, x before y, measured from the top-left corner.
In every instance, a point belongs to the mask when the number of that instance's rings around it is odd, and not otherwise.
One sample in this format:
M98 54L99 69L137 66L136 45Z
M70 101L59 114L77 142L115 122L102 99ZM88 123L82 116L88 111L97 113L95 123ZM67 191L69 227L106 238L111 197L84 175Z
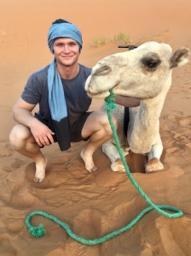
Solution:
M117 128L117 121L114 116L113 123L115 128ZM103 111L91 113L82 129L82 137L84 139L90 137L90 140L81 152L81 158L84 160L85 168L90 172L97 170L93 161L93 153L99 146L109 140L112 135L112 128L108 122L107 113Z

